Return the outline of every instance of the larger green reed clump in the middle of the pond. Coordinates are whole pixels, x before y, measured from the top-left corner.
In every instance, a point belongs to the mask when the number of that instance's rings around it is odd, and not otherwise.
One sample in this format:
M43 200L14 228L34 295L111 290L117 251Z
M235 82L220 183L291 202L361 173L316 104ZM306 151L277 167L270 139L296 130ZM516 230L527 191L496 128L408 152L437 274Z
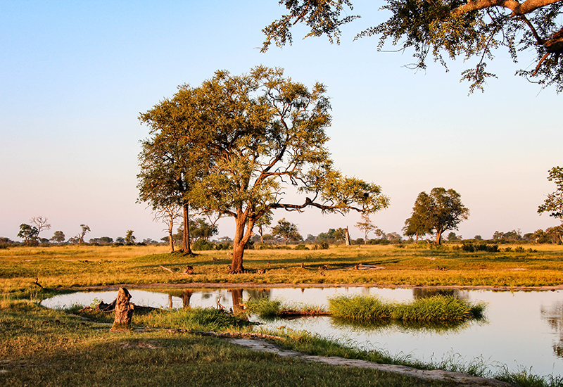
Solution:
M362 295L329 298L331 315L355 321L390 319L400 322L461 322L467 319L482 319L484 310L484 303L473 304L441 295L419 298L409 303Z

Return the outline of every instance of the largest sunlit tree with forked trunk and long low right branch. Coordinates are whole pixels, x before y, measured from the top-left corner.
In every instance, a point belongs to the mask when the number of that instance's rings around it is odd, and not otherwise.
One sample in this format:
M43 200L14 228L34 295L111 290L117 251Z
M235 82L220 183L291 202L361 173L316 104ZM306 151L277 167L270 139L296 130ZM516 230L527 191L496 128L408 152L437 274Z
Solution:
M155 109L167 110L160 117L168 122L146 120L153 135L175 127L181 134L175 141L205 156L191 165L204 173L190 182L186 198L200 211L234 219L233 273L244 271L253 227L274 209L369 213L388 205L379 186L334 169L325 147L331 116L323 84L309 89L263 66L241 76L217 71ZM303 198L289 201L291 187Z

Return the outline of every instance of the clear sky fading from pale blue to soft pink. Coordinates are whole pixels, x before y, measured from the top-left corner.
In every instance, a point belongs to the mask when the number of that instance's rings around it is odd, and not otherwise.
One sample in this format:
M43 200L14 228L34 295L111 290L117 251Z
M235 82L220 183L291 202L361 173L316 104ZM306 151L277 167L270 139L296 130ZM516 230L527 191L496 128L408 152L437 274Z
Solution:
M381 186L388 209L371 220L398 232L417 195L455 189L470 210L457 235L491 238L559 224L538 205L555 191L548 170L562 165L561 101L514 75L536 65L533 53L512 63L497 51L484 93L468 96L460 72L474 61L405 68L410 53L377 51L377 38L356 33L384 20L377 1L354 1L362 15L343 28L341 44L301 39L260 53L262 28L284 13L277 0L12 1L0 2L0 236L13 240L31 217L49 219L51 238L88 224L86 239L160 239L164 224L137 203L139 141L148 128L139 113L197 87L216 70L234 75L256 65L284 68L312 86L327 85L333 122L327 129L334 164L344 175ZM274 213L303 236L354 227L360 215ZM219 223L233 236L234 220Z

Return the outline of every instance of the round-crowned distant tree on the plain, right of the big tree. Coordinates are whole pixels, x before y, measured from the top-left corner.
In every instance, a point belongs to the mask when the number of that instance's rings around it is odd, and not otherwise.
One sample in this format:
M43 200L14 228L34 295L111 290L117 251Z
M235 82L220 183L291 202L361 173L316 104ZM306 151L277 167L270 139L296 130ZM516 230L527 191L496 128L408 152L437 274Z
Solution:
M436 233L436 244L442 242L442 234L446 230L457 229L457 224L469 217L467 209L453 189L436 187L430 194L421 192L412 208L412 216L405 224L409 227L413 217L417 222L415 229Z

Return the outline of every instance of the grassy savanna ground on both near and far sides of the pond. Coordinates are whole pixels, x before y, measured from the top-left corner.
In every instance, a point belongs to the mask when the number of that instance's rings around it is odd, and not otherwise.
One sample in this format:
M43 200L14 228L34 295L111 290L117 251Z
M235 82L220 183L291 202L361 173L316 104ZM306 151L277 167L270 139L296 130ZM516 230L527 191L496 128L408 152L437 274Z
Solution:
M79 312L82 306L49 310L39 303L61 293L119 286L562 288L562 257L563 247L551 244L501 245L496 252L468 252L455 244L433 248L426 243L247 250L244 267L248 272L229 274L231 258L224 250L182 255L167 253L165 246L3 249L0 385L453 386L447 381L422 381L256 353L222 338L196 333L251 332L254 326L244 315L198 308L156 310L135 314L134 329L118 333L104 325L112 317L102 312ZM184 274L187 267L191 267L191 274ZM303 353L435 367L353 350L306 332L289 332L273 340ZM563 385L557 378L526 374L496 377L521 386Z

